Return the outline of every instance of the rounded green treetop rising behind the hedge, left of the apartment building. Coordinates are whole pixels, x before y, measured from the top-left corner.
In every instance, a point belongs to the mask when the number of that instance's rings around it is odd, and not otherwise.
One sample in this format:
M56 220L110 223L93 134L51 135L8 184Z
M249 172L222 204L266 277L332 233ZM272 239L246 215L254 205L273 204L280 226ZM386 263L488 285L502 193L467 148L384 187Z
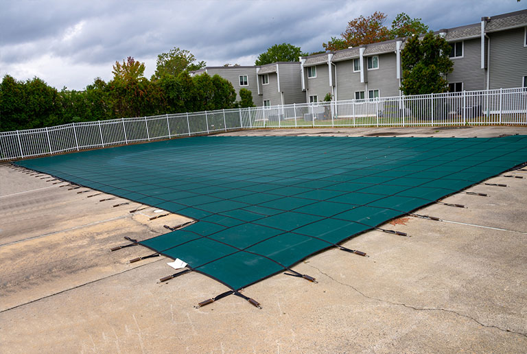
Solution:
M206 62L196 62L196 58L190 51L174 47L168 53L157 56L156 71L152 80L161 78L163 75L178 76L183 71L198 70L207 65Z

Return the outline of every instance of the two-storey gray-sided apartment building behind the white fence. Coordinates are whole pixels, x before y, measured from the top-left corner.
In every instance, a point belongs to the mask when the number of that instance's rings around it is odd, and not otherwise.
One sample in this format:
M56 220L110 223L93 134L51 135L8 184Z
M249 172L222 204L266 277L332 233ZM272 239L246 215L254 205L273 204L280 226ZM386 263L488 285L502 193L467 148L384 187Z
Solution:
M452 45L452 92L527 87L527 10L484 17L435 34ZM231 81L236 92L248 88L257 106L364 99L401 95L401 51L406 38L305 56L299 62L252 67L207 67ZM238 96L239 99L239 96Z

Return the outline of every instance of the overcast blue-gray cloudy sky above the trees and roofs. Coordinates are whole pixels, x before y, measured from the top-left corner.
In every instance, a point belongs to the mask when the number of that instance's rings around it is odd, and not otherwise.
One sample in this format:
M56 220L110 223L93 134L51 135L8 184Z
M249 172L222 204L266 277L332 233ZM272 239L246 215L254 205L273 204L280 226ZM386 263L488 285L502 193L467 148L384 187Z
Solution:
M112 65L128 56L145 62L150 78L157 55L174 47L209 66L252 65L275 43L321 50L348 21L375 11L388 15L386 24L406 12L436 30L526 7L527 0L0 0L0 76L79 90L96 77L110 80Z

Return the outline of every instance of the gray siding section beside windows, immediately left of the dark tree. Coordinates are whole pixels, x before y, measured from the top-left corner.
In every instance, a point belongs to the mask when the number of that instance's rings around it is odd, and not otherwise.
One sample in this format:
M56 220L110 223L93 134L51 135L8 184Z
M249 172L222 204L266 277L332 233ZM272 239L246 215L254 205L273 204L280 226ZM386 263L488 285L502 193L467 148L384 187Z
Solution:
M399 80L395 75L397 75L395 53L379 54L379 69L368 70L368 91L379 90L380 97L399 96ZM367 97L368 93L365 94Z

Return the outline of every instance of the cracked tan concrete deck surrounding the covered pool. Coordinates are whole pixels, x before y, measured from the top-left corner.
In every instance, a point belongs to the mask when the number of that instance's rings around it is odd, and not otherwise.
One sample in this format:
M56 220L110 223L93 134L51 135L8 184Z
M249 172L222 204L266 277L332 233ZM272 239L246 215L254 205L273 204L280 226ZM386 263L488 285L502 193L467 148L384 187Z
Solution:
M527 128L482 127L257 130L232 134L498 136ZM213 139L213 138L211 138ZM527 177L527 172L511 172ZM112 207L0 165L0 348L2 353L525 353L527 348L527 179L496 177L507 188L468 189L293 267L318 283L277 274L242 298L141 247L109 248L124 236L167 232L153 209ZM469 225L472 224L472 225ZM474 226L473 226L474 225ZM484 226L484 227L480 227ZM500 228L500 229L498 229ZM517 231L517 232L515 232Z

